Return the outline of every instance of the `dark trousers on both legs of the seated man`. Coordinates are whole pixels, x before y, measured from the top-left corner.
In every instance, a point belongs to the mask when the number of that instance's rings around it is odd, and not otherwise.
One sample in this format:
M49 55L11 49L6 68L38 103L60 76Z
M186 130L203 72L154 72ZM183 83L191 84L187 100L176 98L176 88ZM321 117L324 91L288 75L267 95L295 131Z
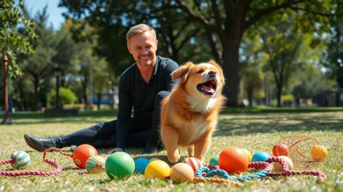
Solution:
M154 111L151 120L146 118L132 117L130 121L130 130L126 139L126 147L145 147L148 140L152 146L157 147L160 141L159 125L161 121L161 101L168 96L170 92L161 91L157 93L154 100ZM69 147L71 145L82 145L96 142L107 137L115 138L117 120L109 122L100 122L94 126L82 129L72 134L58 137L57 147ZM112 141L115 147L115 139Z

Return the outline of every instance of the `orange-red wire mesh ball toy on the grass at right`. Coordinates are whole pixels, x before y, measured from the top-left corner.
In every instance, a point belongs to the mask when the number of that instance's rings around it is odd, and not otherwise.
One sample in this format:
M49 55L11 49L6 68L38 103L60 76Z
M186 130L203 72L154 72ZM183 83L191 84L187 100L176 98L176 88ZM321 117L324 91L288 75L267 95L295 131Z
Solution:
M287 156L293 161L294 167L308 169L317 166L322 161L322 159L319 160L311 156L312 148L321 145L315 138L305 135L290 135L282 138L276 145L286 146L288 150L275 150L276 155L274 155L280 156L288 153Z

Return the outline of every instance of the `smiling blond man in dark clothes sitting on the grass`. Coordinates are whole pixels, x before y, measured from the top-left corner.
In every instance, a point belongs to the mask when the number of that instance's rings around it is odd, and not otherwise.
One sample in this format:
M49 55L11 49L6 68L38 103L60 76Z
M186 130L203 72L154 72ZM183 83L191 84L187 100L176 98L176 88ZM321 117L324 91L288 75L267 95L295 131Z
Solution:
M26 134L24 138L30 147L44 151L49 147L73 145L74 149L81 144L90 144L95 148L115 147L108 153L123 151L125 147L143 147L143 153L156 153L161 142L161 100L169 95L175 84L170 73L179 66L169 58L156 56L158 41L150 26L131 27L126 39L136 63L120 76L117 120L100 122L61 137L39 138Z

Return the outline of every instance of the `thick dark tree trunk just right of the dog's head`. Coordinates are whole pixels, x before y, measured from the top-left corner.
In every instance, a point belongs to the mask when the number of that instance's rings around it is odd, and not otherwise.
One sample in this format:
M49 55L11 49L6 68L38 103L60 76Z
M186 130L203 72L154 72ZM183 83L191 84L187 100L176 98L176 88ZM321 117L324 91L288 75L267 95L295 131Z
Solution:
M238 62L239 40L235 38L226 39L227 40L222 40L224 61L223 72L226 79L223 93L227 97L227 106L242 107L243 102L241 95L240 69Z

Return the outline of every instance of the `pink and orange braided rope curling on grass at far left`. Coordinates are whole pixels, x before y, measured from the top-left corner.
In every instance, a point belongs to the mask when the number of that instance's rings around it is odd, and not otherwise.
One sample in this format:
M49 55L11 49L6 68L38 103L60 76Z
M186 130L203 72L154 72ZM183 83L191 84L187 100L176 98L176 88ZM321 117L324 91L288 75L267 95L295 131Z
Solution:
M46 156L46 153L48 151L51 151L51 150L54 150L54 151L58 151L60 152L61 154L63 155L67 155L67 156L70 156L72 157L72 154L68 154L68 153L63 153L60 149L57 149L55 147L51 147L47 150L44 151L44 154L43 154L43 160L45 163L53 166L56 168L56 170L53 170L53 171L26 171L26 172L4 172L4 171L1 171L0 170L0 175L3 175L3 176L13 176L13 177L16 177L16 176L22 176L22 175L55 175L55 174L59 174L61 173L62 171L62 168L61 168L61 165L59 165L58 163L56 162L53 162L53 161L50 161L48 159L45 158ZM14 159L6 159L6 160L2 160L0 161L0 165L3 165L3 164L6 164L6 163L14 163Z

